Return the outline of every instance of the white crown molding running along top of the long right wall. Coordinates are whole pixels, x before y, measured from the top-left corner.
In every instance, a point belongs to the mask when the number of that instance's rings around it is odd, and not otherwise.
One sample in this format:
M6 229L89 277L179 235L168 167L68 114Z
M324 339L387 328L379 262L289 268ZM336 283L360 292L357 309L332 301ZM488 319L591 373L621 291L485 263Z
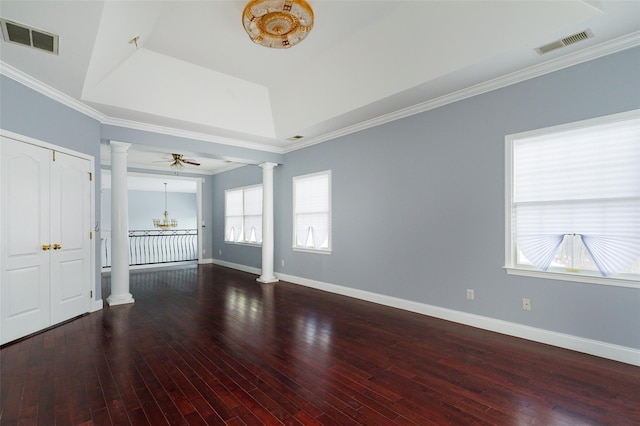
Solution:
M520 71L516 71L510 74L494 78L492 80L485 81L483 83L469 86L465 89L458 90L456 92L449 93L444 96L440 96L434 99L430 99L419 104L394 111L389 114L381 115L371 120L363 121L353 126L344 127L334 132L326 133L322 136L310 138L304 141L297 142L290 145L284 150L284 153L297 151L299 149L307 148L312 145L316 145L322 142L327 142L332 139L336 139L342 136L356 133L362 130L366 130L372 127L380 126L382 124L390 123L392 121L399 120L401 118L410 117L412 115L420 114L435 108L439 108L444 105L448 105L463 99L471 98L473 96L481 95L483 93L491 92L496 89L511 86L516 83L520 83L526 80L530 80L535 77L540 77L545 74L549 74L555 71L569 68L574 65L578 65L584 62L588 62L594 59L598 59L604 56L608 56L623 50L631 49L640 45L640 31L636 31L631 34L627 34L623 37L613 39L598 45L592 46L587 49L580 50L556 59L543 62L538 65L534 65Z

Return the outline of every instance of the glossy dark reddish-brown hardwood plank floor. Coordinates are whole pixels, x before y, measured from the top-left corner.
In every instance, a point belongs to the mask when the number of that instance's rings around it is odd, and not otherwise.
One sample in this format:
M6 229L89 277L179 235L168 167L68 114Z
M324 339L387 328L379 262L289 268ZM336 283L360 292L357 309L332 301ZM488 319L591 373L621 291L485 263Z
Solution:
M213 265L0 351L2 425L638 425L640 368ZM109 278L103 278L103 298Z

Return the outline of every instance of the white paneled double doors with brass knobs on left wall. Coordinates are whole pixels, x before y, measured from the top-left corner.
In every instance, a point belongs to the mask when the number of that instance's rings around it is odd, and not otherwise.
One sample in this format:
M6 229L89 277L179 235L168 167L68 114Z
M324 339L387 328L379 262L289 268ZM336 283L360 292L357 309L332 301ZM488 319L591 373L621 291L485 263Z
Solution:
M91 162L0 140L0 344L91 307Z

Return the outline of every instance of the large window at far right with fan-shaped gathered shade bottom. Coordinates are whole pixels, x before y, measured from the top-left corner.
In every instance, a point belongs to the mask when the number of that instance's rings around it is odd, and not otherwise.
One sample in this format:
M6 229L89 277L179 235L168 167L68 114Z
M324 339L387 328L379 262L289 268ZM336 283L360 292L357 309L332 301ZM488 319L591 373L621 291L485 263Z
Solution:
M510 135L506 155L509 273L638 284L640 111Z

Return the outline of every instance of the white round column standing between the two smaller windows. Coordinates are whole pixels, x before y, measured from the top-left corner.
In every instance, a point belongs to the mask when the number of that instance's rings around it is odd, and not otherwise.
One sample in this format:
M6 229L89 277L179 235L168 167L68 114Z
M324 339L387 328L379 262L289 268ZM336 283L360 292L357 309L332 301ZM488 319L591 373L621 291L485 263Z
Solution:
M261 283L274 283L273 273L273 168L276 163L262 163L262 275Z

